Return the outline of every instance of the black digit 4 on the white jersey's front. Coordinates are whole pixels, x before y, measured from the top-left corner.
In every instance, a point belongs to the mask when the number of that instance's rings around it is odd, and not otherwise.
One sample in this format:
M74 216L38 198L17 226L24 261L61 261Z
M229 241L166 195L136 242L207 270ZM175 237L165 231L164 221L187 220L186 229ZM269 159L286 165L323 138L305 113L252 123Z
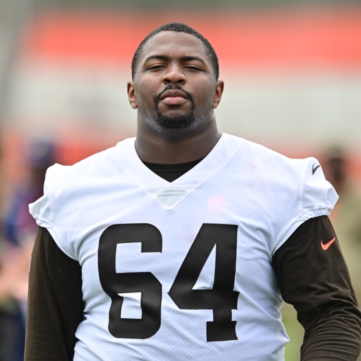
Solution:
M216 270L212 290L193 290L200 272L216 245ZM175 277L169 296L181 309L211 309L213 321L207 322L207 341L236 340L239 292L234 291L236 273L237 226L204 224L198 232Z

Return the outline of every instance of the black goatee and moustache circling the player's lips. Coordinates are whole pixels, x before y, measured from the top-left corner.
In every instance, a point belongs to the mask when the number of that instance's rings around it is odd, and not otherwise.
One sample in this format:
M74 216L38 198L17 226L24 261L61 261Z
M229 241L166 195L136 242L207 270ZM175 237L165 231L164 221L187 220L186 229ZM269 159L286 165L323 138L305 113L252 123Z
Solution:
M187 95L188 100L191 102L191 108L188 113L186 114L175 114L174 116L167 116L165 114L162 114L158 108L158 104L160 102L160 97L164 92L167 90L180 90L184 94ZM185 91L182 89L181 86L178 84L175 84L174 86L168 86L166 87L161 93L157 94L154 98L154 105L156 110L156 119L155 122L158 126L160 126L163 129L187 129L196 122L195 117L195 104L193 100L193 95L190 92Z

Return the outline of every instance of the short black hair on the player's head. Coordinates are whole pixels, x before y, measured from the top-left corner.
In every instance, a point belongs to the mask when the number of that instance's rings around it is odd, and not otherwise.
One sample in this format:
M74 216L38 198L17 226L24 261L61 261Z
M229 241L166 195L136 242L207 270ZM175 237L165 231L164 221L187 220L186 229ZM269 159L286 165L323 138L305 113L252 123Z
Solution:
M140 54L142 53L142 50L144 48L144 45L148 42L149 39L153 38L156 34L162 32L162 31L176 31L176 32L185 32L186 34L190 34L198 38L206 49L206 54L210 57L210 60L212 61L212 67L214 71L214 75L216 77L216 80L218 80L219 77L219 64L218 64L218 57L216 52L214 51L212 45L209 43L209 41L198 31L194 30L190 26L178 23L178 22L171 22L165 25L162 25L158 27L157 29L153 30L150 34L148 34L142 42L139 44L138 48L136 49L133 59L132 59L132 79L134 79L136 67L138 66L138 60L140 57Z

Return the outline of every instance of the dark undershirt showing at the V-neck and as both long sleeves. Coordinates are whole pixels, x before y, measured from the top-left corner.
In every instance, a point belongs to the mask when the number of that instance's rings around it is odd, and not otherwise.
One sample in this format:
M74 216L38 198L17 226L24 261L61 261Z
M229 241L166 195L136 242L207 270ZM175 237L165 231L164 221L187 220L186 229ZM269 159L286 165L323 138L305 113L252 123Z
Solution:
M171 182L199 161L144 164ZM275 252L272 265L284 301L295 307L305 329L301 360L356 361L361 313L338 240L325 252L319 243L325 236L335 236L328 217L309 219ZM29 273L25 361L73 360L84 309L81 272L39 227Z

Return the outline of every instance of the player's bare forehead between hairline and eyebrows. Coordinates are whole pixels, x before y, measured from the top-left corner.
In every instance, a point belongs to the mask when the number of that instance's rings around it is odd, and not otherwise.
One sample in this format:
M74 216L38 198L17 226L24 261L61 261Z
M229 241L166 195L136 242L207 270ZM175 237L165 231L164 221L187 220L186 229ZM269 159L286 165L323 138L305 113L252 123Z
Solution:
M210 64L206 48L200 39L185 32L162 31L154 35L144 45L139 64L149 56L166 55L169 57L198 56Z

